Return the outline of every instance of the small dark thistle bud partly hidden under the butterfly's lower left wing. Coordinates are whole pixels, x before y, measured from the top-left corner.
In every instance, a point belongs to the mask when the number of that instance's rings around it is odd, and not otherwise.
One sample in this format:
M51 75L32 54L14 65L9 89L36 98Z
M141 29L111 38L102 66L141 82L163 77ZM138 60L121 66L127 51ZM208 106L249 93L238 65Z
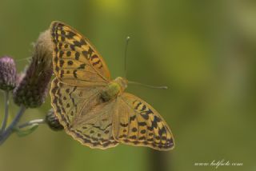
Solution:
M50 129L54 131L64 129L63 126L59 123L58 118L54 114L54 109L50 109L46 114L46 123L49 125Z

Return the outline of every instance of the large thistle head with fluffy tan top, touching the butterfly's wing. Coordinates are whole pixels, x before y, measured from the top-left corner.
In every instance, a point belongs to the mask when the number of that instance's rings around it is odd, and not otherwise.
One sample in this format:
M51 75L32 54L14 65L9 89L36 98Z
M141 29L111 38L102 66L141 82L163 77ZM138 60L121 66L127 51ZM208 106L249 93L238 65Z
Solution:
M52 75L52 43L50 31L39 35L25 76L14 89L14 102L26 108L35 108L45 101Z

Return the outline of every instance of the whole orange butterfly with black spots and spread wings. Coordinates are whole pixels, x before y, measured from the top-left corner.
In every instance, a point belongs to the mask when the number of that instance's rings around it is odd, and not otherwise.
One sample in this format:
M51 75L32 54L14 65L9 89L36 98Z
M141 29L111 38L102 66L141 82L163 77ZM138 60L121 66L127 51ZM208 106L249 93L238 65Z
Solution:
M90 148L119 143L152 149L174 148L166 121L146 101L126 93L126 78L110 79L110 71L94 46L63 22L52 22L55 78L50 97L66 133Z

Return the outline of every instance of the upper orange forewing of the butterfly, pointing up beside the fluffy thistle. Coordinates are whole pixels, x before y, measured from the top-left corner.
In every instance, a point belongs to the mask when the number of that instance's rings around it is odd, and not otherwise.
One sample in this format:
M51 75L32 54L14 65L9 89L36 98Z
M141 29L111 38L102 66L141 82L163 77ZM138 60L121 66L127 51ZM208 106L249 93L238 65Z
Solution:
M109 82L110 72L106 63L82 34L62 22L52 22L50 31L54 44L54 74L57 78L73 85Z

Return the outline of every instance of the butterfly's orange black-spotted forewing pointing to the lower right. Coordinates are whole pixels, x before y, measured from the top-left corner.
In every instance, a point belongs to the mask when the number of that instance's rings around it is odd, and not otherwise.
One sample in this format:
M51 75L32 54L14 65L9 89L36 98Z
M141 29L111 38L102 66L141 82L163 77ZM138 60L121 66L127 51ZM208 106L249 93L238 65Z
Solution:
M130 93L122 93L118 97L114 138L125 144L158 150L174 147L174 138L166 121L146 101Z

